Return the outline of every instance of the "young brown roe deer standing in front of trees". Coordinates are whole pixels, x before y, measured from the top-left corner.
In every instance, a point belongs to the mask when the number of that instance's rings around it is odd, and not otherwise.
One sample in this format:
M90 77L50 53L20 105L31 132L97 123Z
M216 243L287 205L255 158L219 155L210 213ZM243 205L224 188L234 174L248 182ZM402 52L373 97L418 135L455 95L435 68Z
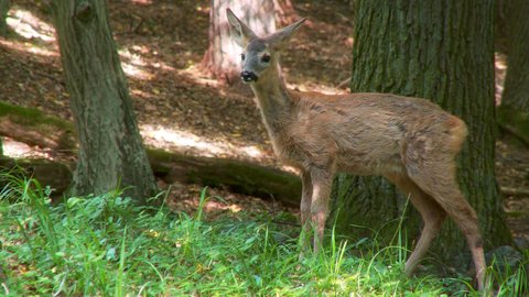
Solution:
M314 251L322 244L335 173L380 175L410 197L424 221L406 274L413 273L447 215L466 238L482 289L485 257L477 216L455 178L465 123L419 98L290 91L278 51L305 20L260 37L229 9L227 18L231 36L245 48L240 78L257 97L273 150L301 172L302 234L314 228Z

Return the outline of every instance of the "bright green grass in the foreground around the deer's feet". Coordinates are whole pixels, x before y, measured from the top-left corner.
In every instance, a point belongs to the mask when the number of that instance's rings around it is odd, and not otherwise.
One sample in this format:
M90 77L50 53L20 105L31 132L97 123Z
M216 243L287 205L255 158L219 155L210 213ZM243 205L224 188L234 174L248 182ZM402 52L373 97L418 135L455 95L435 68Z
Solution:
M299 255L299 228L239 212L209 220L166 207L136 207L120 191L50 204L50 189L4 174L0 191L0 295L9 296L472 296L468 278L407 278L407 251L369 239ZM1 182L0 182L1 184ZM363 256L354 256L360 250ZM521 296L520 268L493 277ZM498 280L499 279L499 280Z

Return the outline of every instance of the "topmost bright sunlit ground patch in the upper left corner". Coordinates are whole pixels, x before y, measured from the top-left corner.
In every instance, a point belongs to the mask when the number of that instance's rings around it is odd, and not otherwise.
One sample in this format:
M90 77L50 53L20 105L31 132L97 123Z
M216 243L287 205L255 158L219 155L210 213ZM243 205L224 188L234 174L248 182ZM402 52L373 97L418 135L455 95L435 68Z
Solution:
M7 19L8 25L24 38L40 38L43 42L55 42L54 29L26 10L12 10Z

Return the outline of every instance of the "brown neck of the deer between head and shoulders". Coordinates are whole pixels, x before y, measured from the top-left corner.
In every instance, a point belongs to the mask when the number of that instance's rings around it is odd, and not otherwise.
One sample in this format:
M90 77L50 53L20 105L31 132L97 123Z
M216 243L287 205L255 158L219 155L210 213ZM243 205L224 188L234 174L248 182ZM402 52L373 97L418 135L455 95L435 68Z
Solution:
M269 133L277 134L287 124L293 101L281 75L279 63L251 85Z

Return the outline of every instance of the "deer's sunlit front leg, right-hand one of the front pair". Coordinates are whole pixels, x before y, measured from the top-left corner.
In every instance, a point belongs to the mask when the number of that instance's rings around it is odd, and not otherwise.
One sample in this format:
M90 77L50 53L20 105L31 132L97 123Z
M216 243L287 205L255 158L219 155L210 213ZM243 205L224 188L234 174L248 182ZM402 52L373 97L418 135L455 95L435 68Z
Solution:
M328 170L312 169L311 221L314 228L314 252L323 246L323 231L328 216L328 202L333 174Z

